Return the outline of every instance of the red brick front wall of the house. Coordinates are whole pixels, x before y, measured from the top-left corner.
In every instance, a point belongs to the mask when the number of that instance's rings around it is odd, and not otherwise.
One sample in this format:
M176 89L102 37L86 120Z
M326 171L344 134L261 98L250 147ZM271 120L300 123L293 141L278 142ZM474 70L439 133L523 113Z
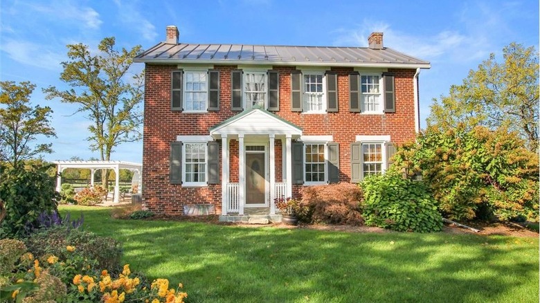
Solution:
M180 214L190 203L221 204L221 185L181 187L169 183L170 143L177 135L208 135L208 129L235 116L231 111L231 73L236 66L215 66L220 80L220 110L208 113L181 113L170 110L170 73L176 66L146 64L145 123L143 140L143 199L154 212ZM349 80L352 68L332 68L338 74L339 112L302 114L291 112L291 79L294 66L273 66L280 71L280 111L276 114L298 125L304 135L332 135L339 143L340 180L350 181L350 143L357 135L390 135L394 143L415 136L414 69L389 69L395 74L395 113L367 115L349 112ZM229 148L231 182L238 182L238 142ZM276 158L282 146L276 140ZM220 157L221 161L221 157ZM282 162L276 161L276 181L282 181ZM294 192L298 191L295 186Z

